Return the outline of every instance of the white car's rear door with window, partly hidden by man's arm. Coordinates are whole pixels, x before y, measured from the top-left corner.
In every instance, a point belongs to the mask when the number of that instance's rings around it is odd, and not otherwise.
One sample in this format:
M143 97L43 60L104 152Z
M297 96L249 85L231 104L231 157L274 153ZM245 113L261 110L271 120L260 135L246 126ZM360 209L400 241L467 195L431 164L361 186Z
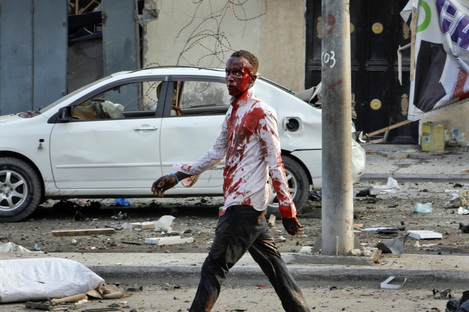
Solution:
M171 105L167 101L165 106L160 140L161 165L165 175L174 172L174 163L188 165L213 146L230 107L224 78L173 76L168 90L168 94L172 90L173 96ZM191 189L178 184L167 193L221 193L224 164L223 159L203 173Z

